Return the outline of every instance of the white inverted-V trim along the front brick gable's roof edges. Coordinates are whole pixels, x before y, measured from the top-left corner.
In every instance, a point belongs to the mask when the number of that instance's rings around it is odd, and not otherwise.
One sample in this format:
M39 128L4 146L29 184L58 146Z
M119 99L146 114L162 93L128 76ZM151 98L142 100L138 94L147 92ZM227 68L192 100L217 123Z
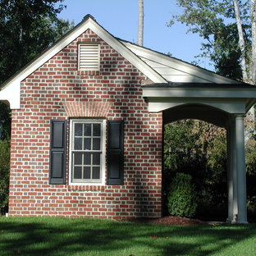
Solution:
M150 80L155 83L166 83L162 75L154 71L151 66L142 61L135 53L131 52L129 48L116 39L112 34L104 30L101 25L99 25L93 16L87 15L80 24L76 25L73 30L64 35L62 39L54 43L53 46L48 48L46 51L41 53L34 61L30 62L27 66L21 69L13 75L9 80L2 84L0 91L0 100L8 101L11 108L20 108L21 101L21 81L24 80L31 73L36 71L45 62L48 62L54 55L59 53L62 48L65 48L69 43L75 40L80 34L84 33L86 30L93 30L95 34L108 43L112 48L114 48L117 53L120 53L126 58L132 65L139 69L144 75L146 75Z

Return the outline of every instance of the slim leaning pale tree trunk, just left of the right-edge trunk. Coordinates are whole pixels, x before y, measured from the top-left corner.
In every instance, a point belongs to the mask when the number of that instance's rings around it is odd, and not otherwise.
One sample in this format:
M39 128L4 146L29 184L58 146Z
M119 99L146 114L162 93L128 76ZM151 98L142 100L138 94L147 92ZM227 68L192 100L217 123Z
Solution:
M233 0L234 2L234 8L235 8L235 19L236 19L236 25L238 30L238 36L239 36L239 47L241 51L241 69L243 74L243 80L244 82L248 82L248 75L246 71L246 59L245 59L245 39L243 34L243 28L240 18L240 10L238 6L237 0Z

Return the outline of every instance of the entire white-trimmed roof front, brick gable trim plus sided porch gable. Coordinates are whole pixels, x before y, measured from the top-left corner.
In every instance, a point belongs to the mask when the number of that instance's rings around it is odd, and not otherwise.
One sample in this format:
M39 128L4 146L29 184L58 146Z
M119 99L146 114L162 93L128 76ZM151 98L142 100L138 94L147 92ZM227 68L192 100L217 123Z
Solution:
M36 71L45 62L59 53L69 43L75 40L86 30L95 34L120 53L132 65L144 73L153 83L213 83L213 84L243 84L236 80L217 75L212 71L204 70L187 62L182 62L174 57L155 52L149 48L140 47L134 43L117 39L103 29L93 16L87 15L73 30L59 39L50 48L41 53L34 61L30 62L21 71L13 75L2 84L0 100L10 103L11 108L21 107L21 81Z

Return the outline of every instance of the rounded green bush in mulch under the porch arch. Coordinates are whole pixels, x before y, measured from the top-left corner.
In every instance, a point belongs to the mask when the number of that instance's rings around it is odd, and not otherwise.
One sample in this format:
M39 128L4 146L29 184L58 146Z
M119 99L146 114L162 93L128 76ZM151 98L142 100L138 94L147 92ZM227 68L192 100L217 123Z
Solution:
M177 173L171 181L168 194L168 211L176 217L194 217L197 208L192 178L185 173Z

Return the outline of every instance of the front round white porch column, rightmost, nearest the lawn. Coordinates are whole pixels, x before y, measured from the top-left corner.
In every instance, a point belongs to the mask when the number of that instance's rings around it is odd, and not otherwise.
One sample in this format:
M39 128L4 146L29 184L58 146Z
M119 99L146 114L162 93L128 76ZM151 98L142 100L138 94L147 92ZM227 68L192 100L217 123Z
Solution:
M237 223L247 222L244 115L235 115L235 160L237 181Z

